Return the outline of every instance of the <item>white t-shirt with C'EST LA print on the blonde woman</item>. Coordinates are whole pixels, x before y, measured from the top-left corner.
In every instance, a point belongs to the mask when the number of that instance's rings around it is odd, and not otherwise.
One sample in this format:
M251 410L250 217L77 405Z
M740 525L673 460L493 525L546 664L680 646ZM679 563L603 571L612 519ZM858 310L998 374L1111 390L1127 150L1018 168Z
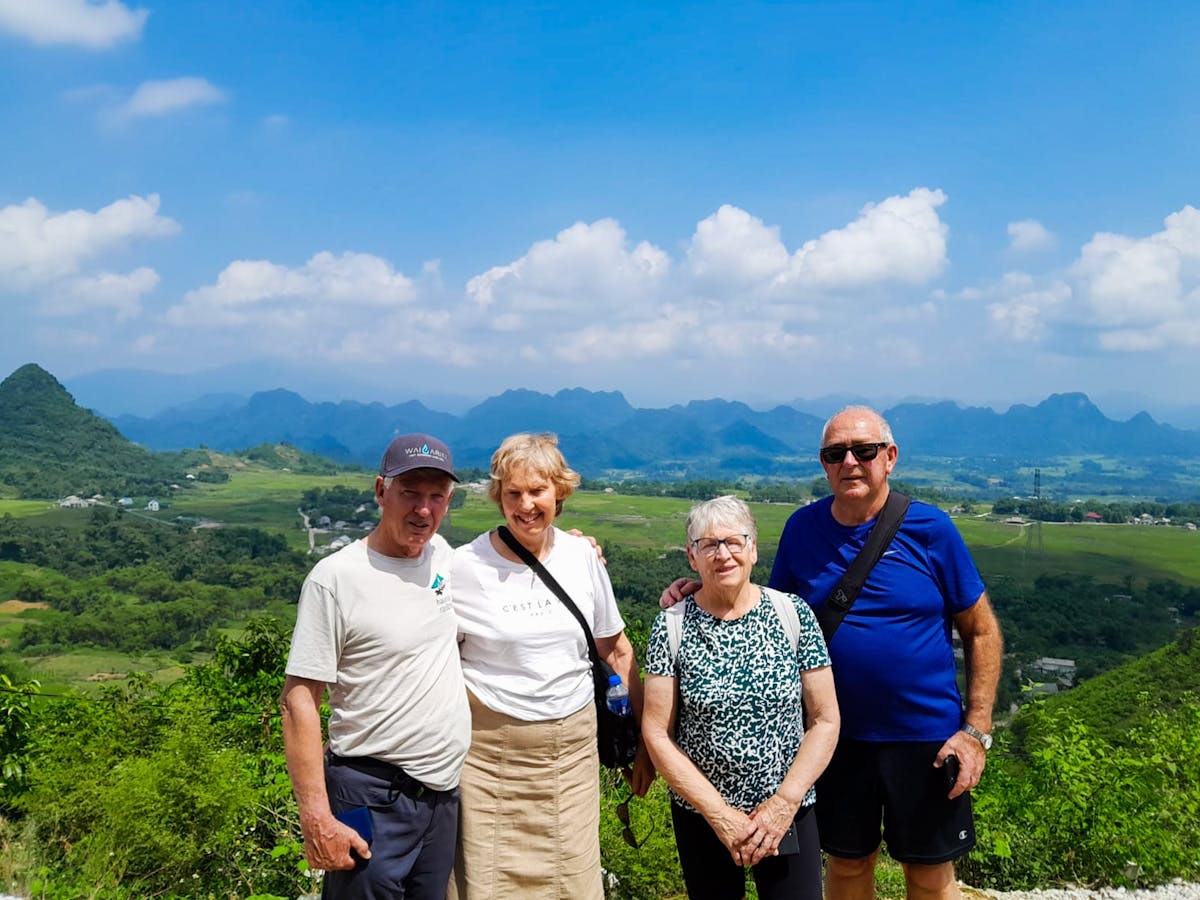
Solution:
M542 565L595 637L625 629L608 572L589 541L556 528ZM546 721L593 702L583 629L533 569L502 557L488 534L481 534L455 551L451 580L463 678L484 706L514 719Z

